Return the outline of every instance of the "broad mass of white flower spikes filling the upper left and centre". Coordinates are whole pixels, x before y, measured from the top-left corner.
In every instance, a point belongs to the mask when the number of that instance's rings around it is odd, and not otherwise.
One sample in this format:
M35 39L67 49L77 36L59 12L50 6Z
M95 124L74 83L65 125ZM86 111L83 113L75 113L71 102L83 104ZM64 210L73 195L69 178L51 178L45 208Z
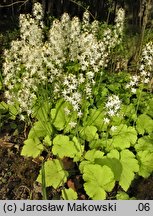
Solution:
M20 39L4 52L5 96L31 114L38 95L47 89L49 100L63 97L80 117L83 99L92 97L97 73L107 66L109 52L118 43L124 12L118 11L114 29L107 28L102 40L96 37L98 21L90 23L86 11L82 22L67 13L55 19L44 42L42 17L39 3L33 15L20 15Z

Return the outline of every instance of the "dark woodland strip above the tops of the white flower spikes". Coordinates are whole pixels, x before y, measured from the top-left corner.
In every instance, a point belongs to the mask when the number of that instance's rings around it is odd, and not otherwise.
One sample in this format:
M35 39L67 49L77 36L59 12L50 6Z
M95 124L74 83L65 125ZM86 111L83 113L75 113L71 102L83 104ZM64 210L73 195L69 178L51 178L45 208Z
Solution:
M0 31L18 26L20 13L29 13L37 0L0 0ZM149 8L147 25L152 26L153 0L40 0L45 17L60 17L64 12L71 16L82 17L88 8L92 19L113 23L116 10L123 7L126 11L126 22L131 28L139 31L143 25L145 7Z

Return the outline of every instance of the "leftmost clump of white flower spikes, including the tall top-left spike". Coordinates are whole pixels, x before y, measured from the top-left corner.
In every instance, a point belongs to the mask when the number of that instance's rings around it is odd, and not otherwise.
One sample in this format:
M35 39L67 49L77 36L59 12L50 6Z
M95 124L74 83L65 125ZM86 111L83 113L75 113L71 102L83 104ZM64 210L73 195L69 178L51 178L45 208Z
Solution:
M37 7L38 6L38 7ZM3 64L5 96L8 103L18 103L20 112L31 114L38 84L47 79L42 62L43 26L40 4L34 6L35 18L20 15L20 39L5 50Z

